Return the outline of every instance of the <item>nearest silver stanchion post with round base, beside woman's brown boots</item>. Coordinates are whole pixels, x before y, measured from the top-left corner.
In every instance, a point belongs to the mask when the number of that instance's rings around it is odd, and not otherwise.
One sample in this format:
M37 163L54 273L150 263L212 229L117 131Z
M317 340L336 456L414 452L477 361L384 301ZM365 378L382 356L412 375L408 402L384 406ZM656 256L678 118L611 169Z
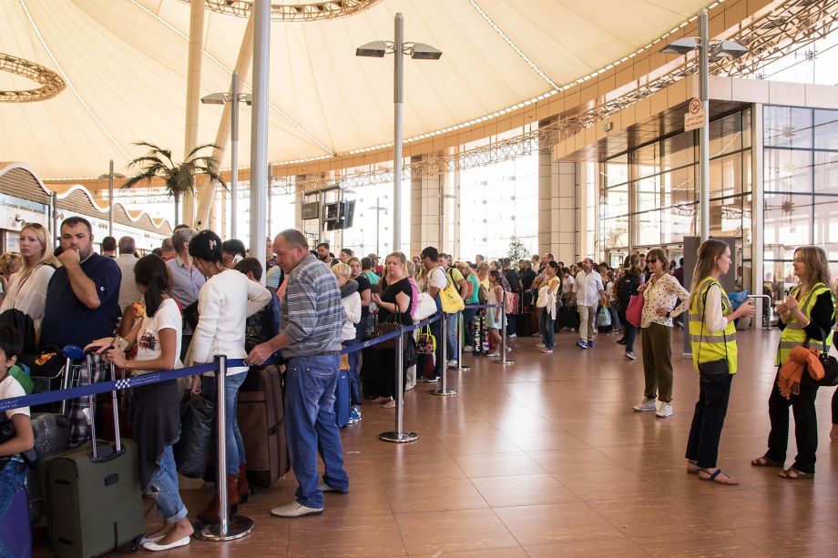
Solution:
M219 487L219 517L220 522L205 525L195 533L204 541L232 541L250 534L253 531L253 520L236 514L228 517L227 507L227 356L216 355L218 370L216 371L216 409L219 421L216 425L219 446L219 461L216 463L216 479Z

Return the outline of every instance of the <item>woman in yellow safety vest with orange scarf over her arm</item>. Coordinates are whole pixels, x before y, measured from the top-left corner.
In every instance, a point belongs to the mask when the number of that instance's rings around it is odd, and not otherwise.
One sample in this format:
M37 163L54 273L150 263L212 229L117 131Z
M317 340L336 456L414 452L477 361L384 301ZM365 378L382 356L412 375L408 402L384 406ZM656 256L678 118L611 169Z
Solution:
M835 303L829 288L829 262L823 249L804 246L794 250L792 262L794 275L800 284L792 287L785 302L777 306L782 329L780 347L775 364L779 367L789 359L792 349L812 340L812 346L821 347L826 336L827 345L833 338ZM805 372L804 372L805 373ZM778 374L779 376L779 374ZM815 452L818 449L818 423L814 399L818 387L801 383L800 391L786 399L774 379L772 394L768 398L768 416L772 430L768 435L768 451L751 461L754 467L783 467L789 444L789 406L794 413L794 437L797 456L792 466L779 474L783 479L811 479L814 476Z

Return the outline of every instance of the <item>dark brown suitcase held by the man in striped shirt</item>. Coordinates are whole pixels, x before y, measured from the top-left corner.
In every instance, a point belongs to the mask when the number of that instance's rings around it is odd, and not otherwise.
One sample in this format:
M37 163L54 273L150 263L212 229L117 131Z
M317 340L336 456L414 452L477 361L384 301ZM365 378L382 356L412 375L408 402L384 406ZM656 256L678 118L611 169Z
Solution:
M268 488L291 469L281 375L276 366L248 372L239 390L237 417L247 456L248 482Z

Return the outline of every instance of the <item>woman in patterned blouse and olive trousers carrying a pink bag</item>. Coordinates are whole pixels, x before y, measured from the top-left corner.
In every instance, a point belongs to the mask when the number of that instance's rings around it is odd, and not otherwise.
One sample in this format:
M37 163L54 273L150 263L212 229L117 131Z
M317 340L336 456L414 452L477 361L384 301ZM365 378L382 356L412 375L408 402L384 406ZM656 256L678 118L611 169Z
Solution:
M690 307L690 291L669 275L668 262L663 249L650 249L646 263L652 277L638 288L644 300L640 331L646 389L643 401L634 410L656 411L659 419L672 416L672 317ZM681 303L676 307L678 299Z

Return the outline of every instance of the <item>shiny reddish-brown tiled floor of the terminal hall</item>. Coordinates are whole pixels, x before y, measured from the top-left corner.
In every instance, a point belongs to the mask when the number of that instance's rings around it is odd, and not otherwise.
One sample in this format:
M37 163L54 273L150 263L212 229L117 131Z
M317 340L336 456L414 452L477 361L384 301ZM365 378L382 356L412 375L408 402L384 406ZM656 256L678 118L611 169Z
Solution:
M363 421L342 431L352 492L328 494L321 516L268 514L291 499L290 473L240 507L256 522L250 537L194 541L169 555L836 556L833 390L817 401L813 482L783 481L777 470L749 464L768 434L778 335L739 337L720 466L740 486L684 472L698 380L680 358L680 333L675 415L666 420L631 411L642 395L642 363L625 360L615 336L600 335L596 349L583 351L562 333L551 356L534 349L536 338L514 341L516 363L506 367L467 356L472 370L450 376L455 397L429 395L425 384L408 392L404 421L420 434L416 443L378 441L393 429L393 411L365 406ZM197 512L210 490L184 496Z

